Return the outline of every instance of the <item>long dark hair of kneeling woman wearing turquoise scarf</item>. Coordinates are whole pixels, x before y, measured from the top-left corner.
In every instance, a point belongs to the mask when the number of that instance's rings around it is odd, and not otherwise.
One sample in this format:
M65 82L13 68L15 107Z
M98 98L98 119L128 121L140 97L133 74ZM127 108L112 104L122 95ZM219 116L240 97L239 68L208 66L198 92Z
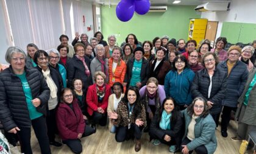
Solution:
M171 111L171 124L172 124L172 122L176 122L176 120L177 120L177 117L178 117L178 114L179 114L177 103L175 102L174 99L172 99L172 97L166 97L163 100L163 103L162 103L162 106L161 106L160 110L157 111L157 114L155 114L155 116L157 116L157 123L159 123L161 121L163 110L165 110L165 102L167 100L171 100L174 104L174 109Z

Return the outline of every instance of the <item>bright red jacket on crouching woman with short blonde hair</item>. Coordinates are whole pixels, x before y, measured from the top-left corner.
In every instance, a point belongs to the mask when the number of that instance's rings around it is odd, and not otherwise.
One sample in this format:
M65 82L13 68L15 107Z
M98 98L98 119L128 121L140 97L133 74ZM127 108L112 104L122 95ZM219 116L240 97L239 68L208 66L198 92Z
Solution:
M108 84L105 84L105 96L102 100L102 103L98 102L98 96L96 91L96 83L88 87L86 102L88 104L87 111L91 116L93 111L97 111L98 107L101 107L105 112L107 111L108 97L111 94L111 89Z

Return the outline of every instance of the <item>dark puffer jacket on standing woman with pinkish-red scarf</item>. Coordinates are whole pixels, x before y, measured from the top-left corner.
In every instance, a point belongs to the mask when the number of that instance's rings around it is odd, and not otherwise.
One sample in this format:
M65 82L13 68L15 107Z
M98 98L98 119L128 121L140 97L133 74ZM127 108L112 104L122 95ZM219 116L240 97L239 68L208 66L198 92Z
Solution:
M91 65L91 60L85 56L85 63L90 70L90 65ZM82 79L84 82L84 87L83 89L88 89L90 85L93 85L93 80L90 76L85 74L85 66L83 65L83 62L79 60L76 57L76 54L74 54L73 58L71 58L69 61L66 63L67 66L67 79L68 79L68 87L71 87L73 79ZM91 70L90 70L91 71Z

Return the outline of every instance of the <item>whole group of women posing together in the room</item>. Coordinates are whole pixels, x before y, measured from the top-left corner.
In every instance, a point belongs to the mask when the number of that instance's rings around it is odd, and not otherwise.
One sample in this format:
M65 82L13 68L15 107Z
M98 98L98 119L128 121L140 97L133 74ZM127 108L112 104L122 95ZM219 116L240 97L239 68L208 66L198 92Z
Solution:
M145 131L152 144L167 144L170 152L214 153L220 116L224 138L232 111L238 119L233 141L255 129L253 46L225 51L224 37L214 49L207 40L197 47L195 40L168 36L140 43L131 33L121 47L115 35L103 39L96 32L89 43L85 33L76 33L72 46L61 35L57 49L34 43L27 54L7 49L10 66L0 65L0 122L10 144L19 140L21 152L32 153L32 126L41 153L62 143L81 153L80 138L108 123L117 142L135 139L136 152Z

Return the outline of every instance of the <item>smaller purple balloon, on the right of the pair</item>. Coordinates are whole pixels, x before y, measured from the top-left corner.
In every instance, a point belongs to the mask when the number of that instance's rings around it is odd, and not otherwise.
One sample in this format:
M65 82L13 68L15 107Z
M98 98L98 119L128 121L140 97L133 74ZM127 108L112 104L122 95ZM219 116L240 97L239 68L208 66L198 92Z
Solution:
M135 5L135 12L137 12L139 15L146 14L150 8L149 0L135 0L134 5Z

